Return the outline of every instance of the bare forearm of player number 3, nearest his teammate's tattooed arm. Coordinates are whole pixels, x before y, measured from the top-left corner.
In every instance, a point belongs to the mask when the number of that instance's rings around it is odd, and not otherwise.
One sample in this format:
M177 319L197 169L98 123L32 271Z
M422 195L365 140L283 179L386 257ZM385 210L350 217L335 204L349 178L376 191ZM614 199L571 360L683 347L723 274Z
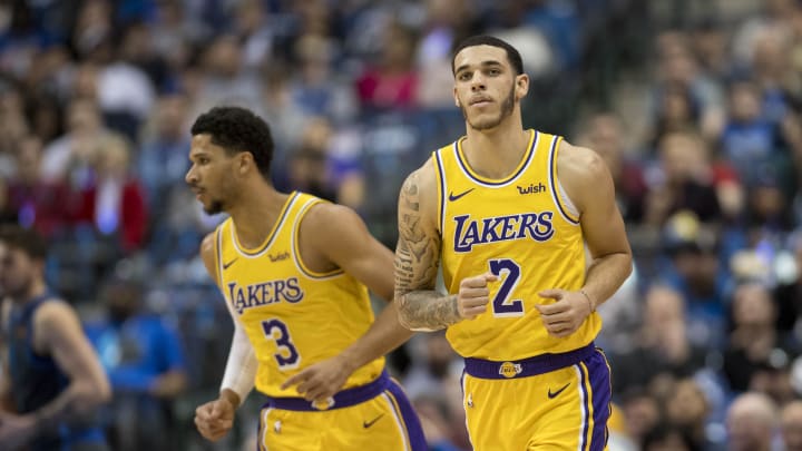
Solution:
M398 304L391 302L354 344L340 355L348 362L351 371L387 354L412 336L412 332L399 322Z

